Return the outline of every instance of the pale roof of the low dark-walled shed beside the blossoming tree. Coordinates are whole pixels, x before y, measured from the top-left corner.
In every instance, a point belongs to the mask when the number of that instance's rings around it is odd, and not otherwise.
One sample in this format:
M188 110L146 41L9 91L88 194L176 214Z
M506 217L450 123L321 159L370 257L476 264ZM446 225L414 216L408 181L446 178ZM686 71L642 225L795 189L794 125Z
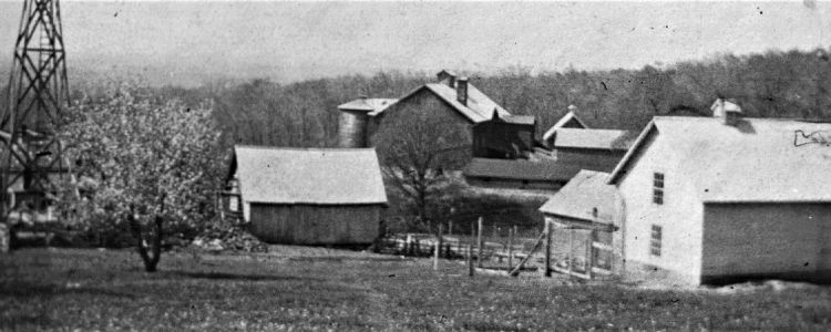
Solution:
M243 200L274 204L387 204L375 148L237 145Z

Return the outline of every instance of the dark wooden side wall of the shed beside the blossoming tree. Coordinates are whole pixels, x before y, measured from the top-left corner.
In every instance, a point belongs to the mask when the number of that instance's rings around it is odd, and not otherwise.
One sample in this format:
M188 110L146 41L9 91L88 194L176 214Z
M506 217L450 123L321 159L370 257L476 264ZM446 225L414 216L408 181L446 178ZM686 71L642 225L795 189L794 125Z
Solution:
M271 243L370 243L378 236L380 205L250 205L252 234Z

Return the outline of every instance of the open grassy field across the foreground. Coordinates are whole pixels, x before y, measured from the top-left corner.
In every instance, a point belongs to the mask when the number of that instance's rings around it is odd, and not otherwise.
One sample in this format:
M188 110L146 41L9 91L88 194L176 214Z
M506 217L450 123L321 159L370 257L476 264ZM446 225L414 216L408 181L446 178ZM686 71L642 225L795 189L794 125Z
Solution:
M267 256L0 256L0 330L413 331L831 329L831 288L648 290L479 274L460 263L324 248Z

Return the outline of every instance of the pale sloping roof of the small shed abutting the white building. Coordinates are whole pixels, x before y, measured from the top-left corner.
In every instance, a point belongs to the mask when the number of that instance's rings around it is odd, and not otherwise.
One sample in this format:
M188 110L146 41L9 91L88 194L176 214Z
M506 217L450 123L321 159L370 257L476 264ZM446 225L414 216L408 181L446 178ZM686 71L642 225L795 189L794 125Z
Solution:
M613 224L617 188L607 185L607 179L608 173L581 170L540 207L540 211L578 220Z

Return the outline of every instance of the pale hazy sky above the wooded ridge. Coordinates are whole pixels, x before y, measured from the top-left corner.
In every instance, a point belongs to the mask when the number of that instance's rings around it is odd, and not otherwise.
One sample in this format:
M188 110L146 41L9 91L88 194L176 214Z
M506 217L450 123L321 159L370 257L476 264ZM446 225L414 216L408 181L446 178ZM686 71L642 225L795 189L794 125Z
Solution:
M0 72L21 3L0 0ZM828 48L831 3L811 3L61 1L70 68L143 70L178 84L393 69L637 69Z

